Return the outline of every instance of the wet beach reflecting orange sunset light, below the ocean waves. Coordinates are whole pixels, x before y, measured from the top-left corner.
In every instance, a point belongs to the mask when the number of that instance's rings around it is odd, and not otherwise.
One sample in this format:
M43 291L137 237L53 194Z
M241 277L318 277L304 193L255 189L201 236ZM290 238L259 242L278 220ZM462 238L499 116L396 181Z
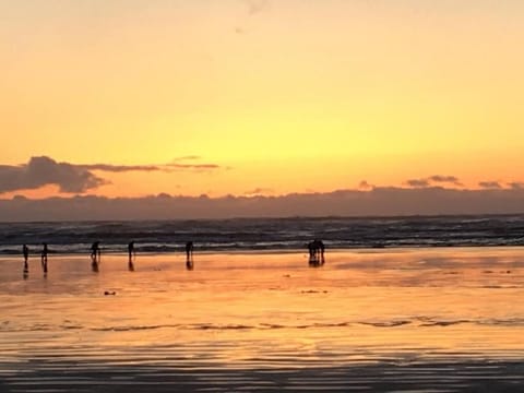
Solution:
M0 258L1 392L522 391L524 249Z

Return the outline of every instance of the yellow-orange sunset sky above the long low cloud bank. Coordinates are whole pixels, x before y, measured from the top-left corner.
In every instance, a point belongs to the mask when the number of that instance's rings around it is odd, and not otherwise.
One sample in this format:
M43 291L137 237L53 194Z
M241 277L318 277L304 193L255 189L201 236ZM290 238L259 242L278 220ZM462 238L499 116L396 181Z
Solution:
M0 15L3 200L524 181L520 0L0 0Z

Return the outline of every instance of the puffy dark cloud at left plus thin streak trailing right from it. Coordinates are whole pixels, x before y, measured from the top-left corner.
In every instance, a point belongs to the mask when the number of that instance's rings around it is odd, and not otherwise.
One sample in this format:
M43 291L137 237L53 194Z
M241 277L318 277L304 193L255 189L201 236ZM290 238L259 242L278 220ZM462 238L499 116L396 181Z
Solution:
M58 186L63 193L84 193L109 183L94 171L209 171L219 169L216 164L184 164L183 160L199 159L198 156L177 158L166 165L112 165L70 164L40 156L32 157L27 164L0 165L0 194L17 190L33 190L44 186Z

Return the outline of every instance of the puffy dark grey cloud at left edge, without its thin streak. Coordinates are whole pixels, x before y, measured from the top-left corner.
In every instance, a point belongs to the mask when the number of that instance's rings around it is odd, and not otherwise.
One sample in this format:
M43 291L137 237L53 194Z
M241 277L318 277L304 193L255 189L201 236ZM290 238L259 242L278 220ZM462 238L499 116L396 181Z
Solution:
M90 170L49 157L32 157L27 164L0 166L0 193L56 184L61 192L79 193L96 189L107 181Z

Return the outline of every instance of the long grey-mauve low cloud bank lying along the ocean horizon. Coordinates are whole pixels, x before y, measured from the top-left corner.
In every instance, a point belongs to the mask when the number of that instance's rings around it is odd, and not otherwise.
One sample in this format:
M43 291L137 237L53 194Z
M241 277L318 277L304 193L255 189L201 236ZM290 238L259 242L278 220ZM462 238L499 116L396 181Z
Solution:
M456 190L440 187L338 190L283 196L73 196L0 200L0 219L193 219L284 216L396 216L524 213L524 189Z

